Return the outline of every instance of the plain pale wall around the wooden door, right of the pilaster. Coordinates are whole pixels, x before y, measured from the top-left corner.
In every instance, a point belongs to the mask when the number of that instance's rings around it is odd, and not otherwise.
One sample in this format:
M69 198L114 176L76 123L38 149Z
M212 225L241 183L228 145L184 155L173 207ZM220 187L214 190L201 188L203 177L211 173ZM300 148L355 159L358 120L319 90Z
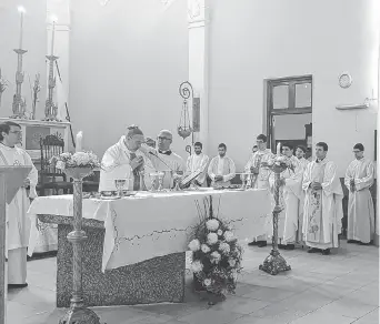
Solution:
M338 111L337 104L377 97L377 0L210 1L209 146L226 142L238 169L263 131L263 80L312 74L313 143L328 142L344 174L352 145L373 159L376 114ZM353 83L341 89L338 77ZM376 102L374 102L376 104Z

